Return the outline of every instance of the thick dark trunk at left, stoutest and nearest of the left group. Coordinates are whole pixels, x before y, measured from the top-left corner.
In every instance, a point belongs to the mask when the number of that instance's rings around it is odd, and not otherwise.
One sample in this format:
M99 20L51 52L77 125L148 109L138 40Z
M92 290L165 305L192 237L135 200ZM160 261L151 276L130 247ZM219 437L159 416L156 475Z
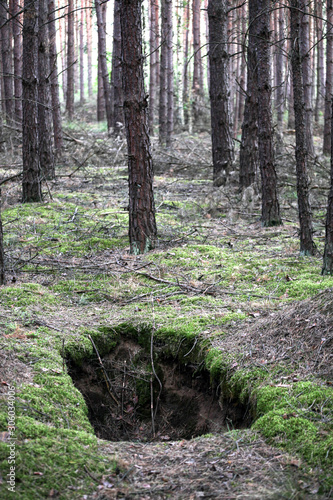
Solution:
M24 1L22 72L22 201L42 201L38 157L38 0Z

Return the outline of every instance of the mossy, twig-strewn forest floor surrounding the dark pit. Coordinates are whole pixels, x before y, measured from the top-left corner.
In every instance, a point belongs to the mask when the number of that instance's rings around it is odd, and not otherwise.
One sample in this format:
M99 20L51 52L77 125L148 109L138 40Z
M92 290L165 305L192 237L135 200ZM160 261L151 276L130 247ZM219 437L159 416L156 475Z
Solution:
M65 139L43 203L2 186L0 496L14 384L15 498L333 498L329 160L311 166L318 254L301 257L292 135L274 228L236 172L213 188L207 133L153 141L158 243L134 256L124 140L83 123Z

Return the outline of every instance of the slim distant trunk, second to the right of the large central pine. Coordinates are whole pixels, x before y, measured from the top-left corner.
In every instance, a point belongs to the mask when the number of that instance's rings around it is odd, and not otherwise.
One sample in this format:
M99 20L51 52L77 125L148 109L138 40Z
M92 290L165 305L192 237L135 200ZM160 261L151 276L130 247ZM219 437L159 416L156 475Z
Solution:
M159 100L159 140L166 144L168 109L168 16L167 0L161 0L161 59L160 59L160 100Z

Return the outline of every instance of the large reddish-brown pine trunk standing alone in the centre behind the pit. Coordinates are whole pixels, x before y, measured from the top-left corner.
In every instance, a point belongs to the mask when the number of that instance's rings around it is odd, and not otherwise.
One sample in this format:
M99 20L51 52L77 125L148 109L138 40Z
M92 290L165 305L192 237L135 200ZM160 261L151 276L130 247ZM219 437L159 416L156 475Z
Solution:
M157 235L148 96L143 77L141 0L120 1L120 22L129 171L129 239L131 253L139 254L154 247Z

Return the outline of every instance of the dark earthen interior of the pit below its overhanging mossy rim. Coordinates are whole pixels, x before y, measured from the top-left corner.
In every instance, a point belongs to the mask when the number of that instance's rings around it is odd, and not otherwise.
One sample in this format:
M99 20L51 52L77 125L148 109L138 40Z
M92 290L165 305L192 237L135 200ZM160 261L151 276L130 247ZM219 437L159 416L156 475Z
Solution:
M135 341L123 338L102 359L77 366L69 374L83 394L96 435L110 441L190 439L246 427L244 405L223 401L200 366L158 360Z

